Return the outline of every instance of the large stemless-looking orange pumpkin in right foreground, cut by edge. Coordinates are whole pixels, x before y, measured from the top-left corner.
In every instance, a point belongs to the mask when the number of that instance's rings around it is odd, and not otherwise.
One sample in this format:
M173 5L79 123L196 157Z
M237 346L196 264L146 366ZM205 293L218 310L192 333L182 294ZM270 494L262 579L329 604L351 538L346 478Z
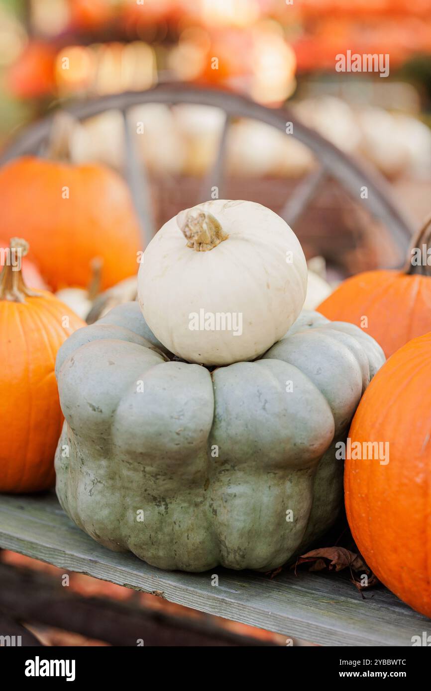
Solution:
M431 617L431 334L398 350L365 391L349 432L388 442L383 460L346 459L352 535L369 567L398 597ZM361 455L364 455L362 452ZM369 452L367 452L369 456ZM386 462L389 460L389 462Z

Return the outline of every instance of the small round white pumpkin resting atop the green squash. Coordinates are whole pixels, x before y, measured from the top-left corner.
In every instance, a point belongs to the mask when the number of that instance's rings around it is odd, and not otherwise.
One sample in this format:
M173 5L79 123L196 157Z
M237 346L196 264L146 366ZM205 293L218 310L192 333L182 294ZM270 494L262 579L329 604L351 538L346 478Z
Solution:
M181 211L145 249L138 301L156 337L206 365L253 360L301 311L307 269L299 240L274 211L212 200Z

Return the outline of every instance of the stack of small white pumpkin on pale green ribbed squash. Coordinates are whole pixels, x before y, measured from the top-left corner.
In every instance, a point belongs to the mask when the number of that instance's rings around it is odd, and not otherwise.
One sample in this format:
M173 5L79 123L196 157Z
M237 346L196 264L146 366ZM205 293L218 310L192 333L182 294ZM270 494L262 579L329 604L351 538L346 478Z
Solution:
M57 495L80 528L185 571L266 571L327 530L336 444L385 358L360 328L300 314L306 278L293 231L253 202L158 231L138 303L57 355Z

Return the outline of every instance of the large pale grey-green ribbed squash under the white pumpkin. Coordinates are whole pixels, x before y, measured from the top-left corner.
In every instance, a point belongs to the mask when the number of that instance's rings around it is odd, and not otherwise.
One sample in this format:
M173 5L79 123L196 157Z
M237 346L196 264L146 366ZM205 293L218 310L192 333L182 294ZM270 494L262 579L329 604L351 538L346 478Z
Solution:
M383 351L302 312L257 361L210 372L170 357L137 303L62 345L62 507L102 545L162 569L283 564L342 506L335 444Z

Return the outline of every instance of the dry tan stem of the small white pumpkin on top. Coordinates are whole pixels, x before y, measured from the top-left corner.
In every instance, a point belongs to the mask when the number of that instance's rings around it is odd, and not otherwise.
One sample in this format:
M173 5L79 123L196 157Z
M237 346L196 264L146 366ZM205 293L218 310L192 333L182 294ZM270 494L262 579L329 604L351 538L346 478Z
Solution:
M199 207L181 211L176 223L187 240L187 247L196 252L208 252L228 238L217 218Z

